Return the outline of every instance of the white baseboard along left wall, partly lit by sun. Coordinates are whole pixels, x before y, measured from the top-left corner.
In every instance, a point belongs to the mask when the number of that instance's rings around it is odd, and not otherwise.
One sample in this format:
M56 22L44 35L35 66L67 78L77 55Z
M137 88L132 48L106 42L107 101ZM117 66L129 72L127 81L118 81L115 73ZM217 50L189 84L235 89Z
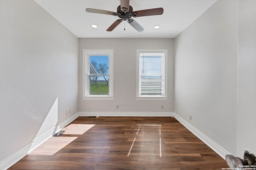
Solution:
M46 140L48 140L52 135L55 133L58 133L62 128L64 128L66 125L68 125L70 122L72 122L74 119L78 117L78 113L73 115L72 117L68 118L66 121L60 123L60 125L57 125L56 127L52 128L50 131L45 133L44 135L38 137L22 149L18 150L5 160L0 162L0 170L7 170L10 168L13 164L21 160L24 156L26 156L28 153L30 153L32 150L36 149L39 145L44 143Z

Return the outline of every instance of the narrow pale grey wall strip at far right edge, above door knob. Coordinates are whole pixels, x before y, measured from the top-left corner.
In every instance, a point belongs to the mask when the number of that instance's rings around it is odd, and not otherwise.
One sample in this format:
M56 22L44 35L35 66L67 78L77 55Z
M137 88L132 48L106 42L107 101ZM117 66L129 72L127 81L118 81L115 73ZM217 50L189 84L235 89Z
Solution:
M256 155L256 1L239 0L237 154Z

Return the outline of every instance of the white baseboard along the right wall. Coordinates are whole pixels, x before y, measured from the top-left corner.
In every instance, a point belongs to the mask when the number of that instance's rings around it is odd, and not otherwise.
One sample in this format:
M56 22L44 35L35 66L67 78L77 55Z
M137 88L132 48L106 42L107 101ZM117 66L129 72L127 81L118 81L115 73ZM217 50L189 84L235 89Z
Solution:
M217 143L212 141L210 138L208 138L206 135L204 135L202 132L200 132L198 129L190 125L187 121L182 119L179 115L174 113L174 117L182 124L184 125L190 132L192 132L196 137L198 137L201 141L203 141L208 147L210 147L214 152L216 152L218 155L220 155L223 159L225 159L225 156L227 154L230 154L228 151L220 147Z

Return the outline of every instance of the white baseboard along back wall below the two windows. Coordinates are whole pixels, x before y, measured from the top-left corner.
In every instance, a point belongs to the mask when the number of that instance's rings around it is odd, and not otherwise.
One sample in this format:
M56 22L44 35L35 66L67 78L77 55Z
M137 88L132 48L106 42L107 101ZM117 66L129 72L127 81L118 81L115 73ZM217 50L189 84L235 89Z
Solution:
M168 117L173 112L78 112L78 116L142 116L142 117Z

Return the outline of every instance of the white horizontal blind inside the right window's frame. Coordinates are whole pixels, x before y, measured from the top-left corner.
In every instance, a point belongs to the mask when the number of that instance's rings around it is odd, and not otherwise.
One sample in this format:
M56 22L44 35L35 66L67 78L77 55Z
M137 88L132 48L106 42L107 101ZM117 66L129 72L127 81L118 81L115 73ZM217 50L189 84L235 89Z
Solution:
M139 53L139 96L165 96L165 53Z

